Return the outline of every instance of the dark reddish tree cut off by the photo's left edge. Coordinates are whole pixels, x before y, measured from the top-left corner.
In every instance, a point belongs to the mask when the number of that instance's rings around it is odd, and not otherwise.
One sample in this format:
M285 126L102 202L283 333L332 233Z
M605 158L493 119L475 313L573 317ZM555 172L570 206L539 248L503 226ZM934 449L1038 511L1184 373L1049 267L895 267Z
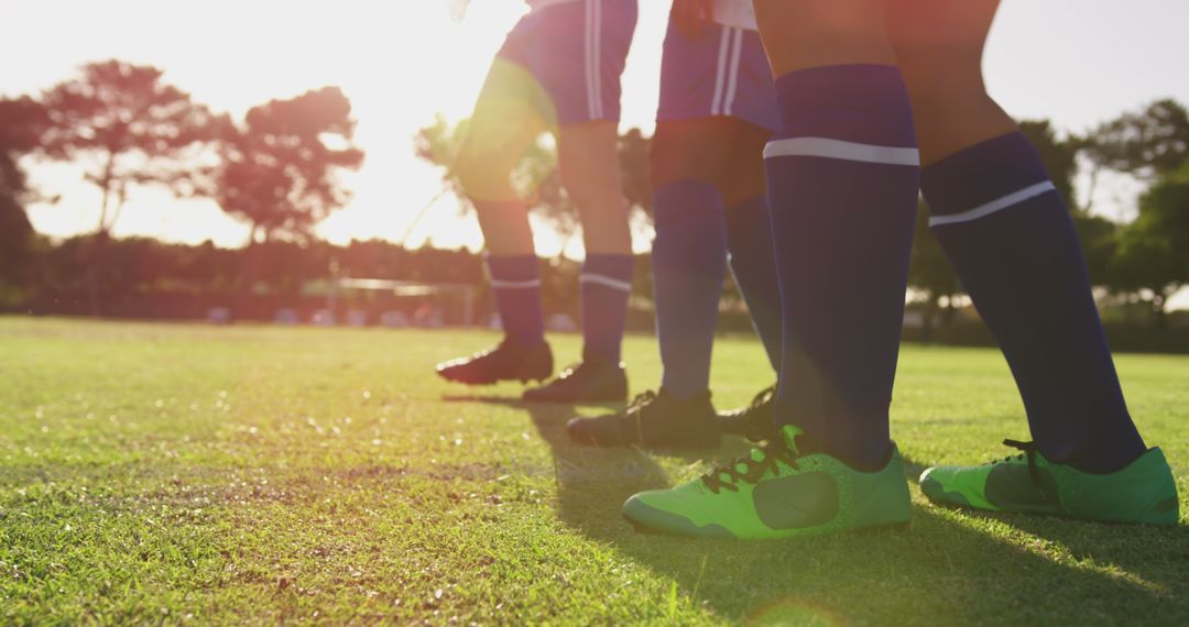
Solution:
M25 204L33 192L18 162L40 145L46 122L39 102L0 99L0 306L19 302L32 279L34 233Z

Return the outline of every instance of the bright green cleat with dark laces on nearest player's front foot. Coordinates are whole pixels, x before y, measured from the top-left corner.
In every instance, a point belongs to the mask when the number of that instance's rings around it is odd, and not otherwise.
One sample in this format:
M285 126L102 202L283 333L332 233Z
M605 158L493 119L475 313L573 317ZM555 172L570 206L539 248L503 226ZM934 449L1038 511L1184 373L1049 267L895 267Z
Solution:
M862 473L825 454L801 455L800 435L785 426L698 480L636 494L623 515L638 531L741 540L907 525L908 483L894 445L881 470Z

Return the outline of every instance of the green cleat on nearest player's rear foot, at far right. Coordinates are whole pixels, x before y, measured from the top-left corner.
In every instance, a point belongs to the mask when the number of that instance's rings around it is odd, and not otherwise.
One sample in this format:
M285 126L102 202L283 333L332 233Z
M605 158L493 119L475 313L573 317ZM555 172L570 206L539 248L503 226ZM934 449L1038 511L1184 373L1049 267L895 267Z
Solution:
M943 466L920 475L930 500L990 512L1033 512L1106 522L1176 525L1177 487L1164 452L1151 449L1122 470L1095 475L1045 458L1031 442L982 466Z

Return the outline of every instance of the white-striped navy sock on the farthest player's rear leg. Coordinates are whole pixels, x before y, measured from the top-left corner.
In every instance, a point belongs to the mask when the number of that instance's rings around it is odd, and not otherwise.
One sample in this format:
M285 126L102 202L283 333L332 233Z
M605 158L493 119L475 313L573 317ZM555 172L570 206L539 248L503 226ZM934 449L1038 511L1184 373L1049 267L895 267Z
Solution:
M622 357L634 262L631 255L587 254L583 264L583 340L611 363Z

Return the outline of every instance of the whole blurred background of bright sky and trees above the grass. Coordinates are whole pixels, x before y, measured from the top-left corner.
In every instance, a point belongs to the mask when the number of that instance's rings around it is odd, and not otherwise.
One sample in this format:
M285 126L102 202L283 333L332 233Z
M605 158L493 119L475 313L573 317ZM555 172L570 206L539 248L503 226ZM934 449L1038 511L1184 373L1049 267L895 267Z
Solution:
M652 328L648 138L667 0L641 0L621 145ZM451 171L518 0L5 0L0 310L493 324ZM992 93L1074 207L1116 349L1189 352L1189 4L1005 0ZM542 138L518 179L556 330L583 255ZM920 221L906 337L987 343ZM723 330L749 328L732 286Z

